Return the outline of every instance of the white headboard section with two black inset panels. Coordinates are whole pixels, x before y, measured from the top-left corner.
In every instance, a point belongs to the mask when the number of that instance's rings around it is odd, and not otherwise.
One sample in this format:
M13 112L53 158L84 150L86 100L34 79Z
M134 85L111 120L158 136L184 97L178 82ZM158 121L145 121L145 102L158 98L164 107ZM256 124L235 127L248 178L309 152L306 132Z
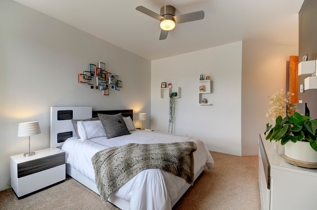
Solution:
M92 117L92 107L51 107L50 146L59 147L64 141L75 136L71 120Z

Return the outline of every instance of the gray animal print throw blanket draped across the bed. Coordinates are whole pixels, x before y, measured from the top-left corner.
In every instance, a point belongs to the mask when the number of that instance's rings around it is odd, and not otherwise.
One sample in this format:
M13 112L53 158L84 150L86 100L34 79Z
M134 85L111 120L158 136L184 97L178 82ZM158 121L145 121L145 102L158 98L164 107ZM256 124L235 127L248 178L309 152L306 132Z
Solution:
M110 147L92 157L95 181L103 202L133 176L159 168L194 183L195 142L127 144Z

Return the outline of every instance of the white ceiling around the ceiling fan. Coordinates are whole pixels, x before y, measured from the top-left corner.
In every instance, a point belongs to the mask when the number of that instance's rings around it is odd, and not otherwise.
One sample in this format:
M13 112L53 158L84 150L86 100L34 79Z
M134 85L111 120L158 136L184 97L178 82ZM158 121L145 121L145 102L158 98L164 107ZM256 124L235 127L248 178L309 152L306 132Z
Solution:
M304 0L15 0L148 60L242 40L298 46ZM135 9L176 15L204 10L203 20L176 25L159 41L159 21Z

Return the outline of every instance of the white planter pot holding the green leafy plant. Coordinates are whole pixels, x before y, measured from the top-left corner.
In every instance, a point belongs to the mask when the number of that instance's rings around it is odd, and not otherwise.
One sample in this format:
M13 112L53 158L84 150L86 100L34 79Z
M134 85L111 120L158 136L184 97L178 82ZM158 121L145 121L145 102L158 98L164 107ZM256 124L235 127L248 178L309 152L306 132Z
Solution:
M287 142L285 144L285 156L298 161L317 163L317 152L309 142L305 141Z

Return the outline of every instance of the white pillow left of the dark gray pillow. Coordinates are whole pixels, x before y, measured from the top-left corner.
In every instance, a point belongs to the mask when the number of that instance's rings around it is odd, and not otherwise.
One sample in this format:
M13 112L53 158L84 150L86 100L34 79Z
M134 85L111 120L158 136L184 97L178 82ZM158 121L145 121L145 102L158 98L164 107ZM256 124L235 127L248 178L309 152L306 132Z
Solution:
M106 131L100 120L78 121L78 134L81 140L86 141L92 138L106 136Z

